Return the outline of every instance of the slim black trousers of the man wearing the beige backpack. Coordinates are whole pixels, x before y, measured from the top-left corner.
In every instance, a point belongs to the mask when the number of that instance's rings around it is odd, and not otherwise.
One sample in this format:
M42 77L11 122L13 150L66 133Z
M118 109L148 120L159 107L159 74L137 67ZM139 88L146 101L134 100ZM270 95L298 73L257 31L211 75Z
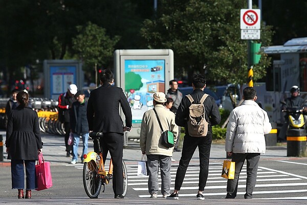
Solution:
M189 162L198 147L200 157L199 190L204 191L208 178L211 142L212 133L208 133L206 137L184 136L181 159L175 179L176 190L180 190Z

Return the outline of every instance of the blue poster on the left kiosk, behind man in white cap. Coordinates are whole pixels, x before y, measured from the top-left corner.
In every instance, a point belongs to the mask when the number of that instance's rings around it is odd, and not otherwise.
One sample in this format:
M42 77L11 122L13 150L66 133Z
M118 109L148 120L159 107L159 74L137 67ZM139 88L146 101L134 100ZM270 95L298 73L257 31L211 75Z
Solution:
M76 84L76 70L75 66L50 67L50 94L53 99L66 92L70 84Z

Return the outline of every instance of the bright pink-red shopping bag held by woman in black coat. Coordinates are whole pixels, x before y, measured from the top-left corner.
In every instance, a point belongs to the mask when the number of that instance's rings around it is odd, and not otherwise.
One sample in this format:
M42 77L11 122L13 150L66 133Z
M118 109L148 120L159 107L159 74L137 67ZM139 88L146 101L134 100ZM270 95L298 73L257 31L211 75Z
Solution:
M38 153L37 165L35 165L37 188L40 191L52 187L52 177L50 172L50 162L45 162L42 153Z

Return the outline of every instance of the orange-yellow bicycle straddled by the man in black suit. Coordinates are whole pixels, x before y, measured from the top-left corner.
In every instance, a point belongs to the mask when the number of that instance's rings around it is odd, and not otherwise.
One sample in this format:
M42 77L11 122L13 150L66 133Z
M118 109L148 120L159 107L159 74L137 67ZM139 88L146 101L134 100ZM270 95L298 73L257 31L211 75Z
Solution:
M101 187L103 186L103 191L105 185L113 179L113 163L112 159L109 163L109 169L106 171L104 168L104 161L102 158L102 151L100 149L99 139L102 137L102 132L91 132L90 137L97 141L98 153L89 152L83 155L83 186L84 190L90 198L98 198L100 194ZM123 196L127 193L128 179L127 179L127 168L125 162L123 163Z

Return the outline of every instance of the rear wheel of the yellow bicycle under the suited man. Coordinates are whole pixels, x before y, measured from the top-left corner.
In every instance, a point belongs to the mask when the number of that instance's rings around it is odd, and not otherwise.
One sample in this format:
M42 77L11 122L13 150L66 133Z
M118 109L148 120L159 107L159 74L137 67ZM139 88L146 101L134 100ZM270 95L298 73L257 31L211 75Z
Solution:
M94 160L84 162L83 165L83 186L85 193L90 198L98 198L101 190L101 178L98 175L98 167Z

